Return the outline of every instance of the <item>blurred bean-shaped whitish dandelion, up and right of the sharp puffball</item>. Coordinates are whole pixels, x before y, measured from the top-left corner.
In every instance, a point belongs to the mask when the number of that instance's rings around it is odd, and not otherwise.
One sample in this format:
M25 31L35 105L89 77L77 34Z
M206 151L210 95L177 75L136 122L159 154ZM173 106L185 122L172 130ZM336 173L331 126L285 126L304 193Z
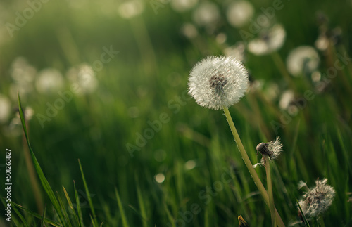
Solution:
M274 25L269 30L264 30L260 34L260 38L251 40L248 44L248 49L256 56L263 56L281 48L285 38L284 27L282 25Z

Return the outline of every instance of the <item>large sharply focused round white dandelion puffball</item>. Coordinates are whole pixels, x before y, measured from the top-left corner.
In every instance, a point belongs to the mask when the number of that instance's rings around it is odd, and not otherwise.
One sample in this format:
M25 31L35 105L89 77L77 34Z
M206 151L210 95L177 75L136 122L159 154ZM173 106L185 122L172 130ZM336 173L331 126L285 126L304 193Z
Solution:
M248 72L232 57L212 56L201 60L190 72L189 94L196 102L213 110L239 102L248 89Z

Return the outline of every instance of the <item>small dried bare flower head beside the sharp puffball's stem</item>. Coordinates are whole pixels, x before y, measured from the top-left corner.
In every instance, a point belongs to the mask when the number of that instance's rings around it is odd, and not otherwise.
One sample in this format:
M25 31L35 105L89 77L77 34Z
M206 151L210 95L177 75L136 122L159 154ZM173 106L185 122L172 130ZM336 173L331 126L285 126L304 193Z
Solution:
M277 157L279 157L280 153L282 152L282 143L280 142L279 136L277 136L275 141L270 141L268 143L259 143L256 148L257 152L260 154L267 155L270 160L275 160ZM264 157L260 160L260 164L257 163L254 165L254 167L257 167L258 165L264 165Z

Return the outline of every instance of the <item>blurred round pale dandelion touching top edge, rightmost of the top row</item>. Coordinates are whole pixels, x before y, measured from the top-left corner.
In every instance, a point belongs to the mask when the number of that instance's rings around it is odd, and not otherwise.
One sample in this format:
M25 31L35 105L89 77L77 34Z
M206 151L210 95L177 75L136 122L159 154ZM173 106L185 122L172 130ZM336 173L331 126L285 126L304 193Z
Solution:
M233 27L242 27L253 17L254 8L249 1L232 1L227 7L227 21Z

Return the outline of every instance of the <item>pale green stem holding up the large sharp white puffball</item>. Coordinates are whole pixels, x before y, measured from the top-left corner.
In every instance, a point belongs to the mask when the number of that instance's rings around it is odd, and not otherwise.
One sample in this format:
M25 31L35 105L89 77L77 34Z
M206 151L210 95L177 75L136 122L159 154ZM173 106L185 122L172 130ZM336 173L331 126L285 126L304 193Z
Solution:
M236 141L237 147L239 148L239 153L241 153L242 159L244 160L244 164L246 164L246 167L248 168L249 173L251 174L254 183L256 183L258 190L262 194L265 203L267 205L269 205L268 193L266 192L266 190L263 186L263 183L260 181L259 176L251 163L251 160L249 160L249 157L246 153L246 150L244 150L244 145L241 142L241 138L239 138L239 134L237 133L236 127L234 127L234 122L232 121L232 117L230 115L229 109L225 106L223 108L224 108L227 122L229 123L230 129L232 131L232 135L234 136L234 141ZM275 207L274 207L274 209L275 209ZM282 221L281 216L279 216L279 213L277 212L276 209L275 209L275 215L276 215L276 219L277 219L277 226L279 226L279 227L284 226L284 222Z

